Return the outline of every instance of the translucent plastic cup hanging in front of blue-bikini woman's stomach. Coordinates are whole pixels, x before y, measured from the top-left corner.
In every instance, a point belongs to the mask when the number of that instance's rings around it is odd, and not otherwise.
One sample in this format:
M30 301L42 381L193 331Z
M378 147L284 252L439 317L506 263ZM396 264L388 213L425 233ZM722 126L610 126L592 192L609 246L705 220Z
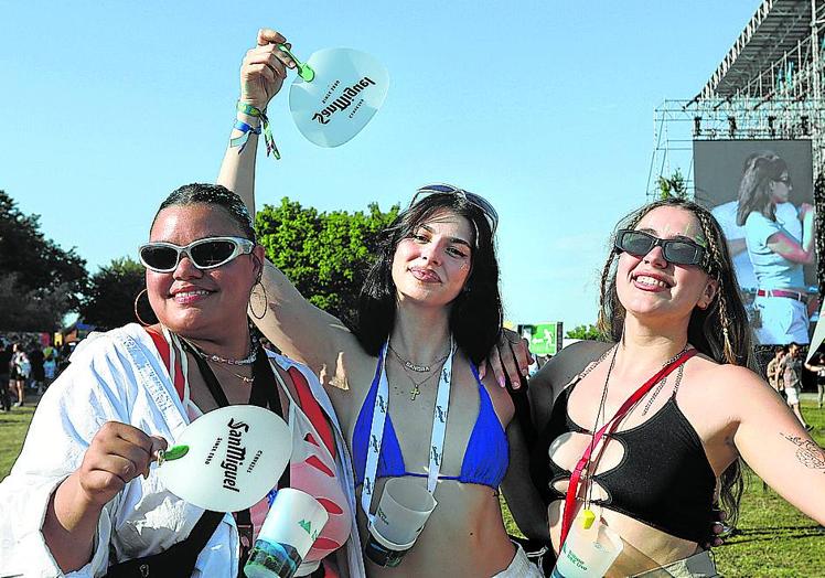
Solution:
M395 567L415 545L438 505L426 488L404 478L384 485L364 554L378 566Z

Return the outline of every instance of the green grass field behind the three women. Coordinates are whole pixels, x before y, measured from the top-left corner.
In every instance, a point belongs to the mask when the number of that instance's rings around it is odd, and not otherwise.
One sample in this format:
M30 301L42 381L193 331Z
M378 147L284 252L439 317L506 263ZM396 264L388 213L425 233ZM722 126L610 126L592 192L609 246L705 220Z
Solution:
M815 426L814 439L825 446L825 409L803 403L803 411ZM20 452L32 414L31 406L0 414L0 479L6 478ZM504 517L510 532L517 533L506 506ZM722 576L825 577L825 528L772 490L763 490L753 474L748 477L742 497L739 531L715 549Z

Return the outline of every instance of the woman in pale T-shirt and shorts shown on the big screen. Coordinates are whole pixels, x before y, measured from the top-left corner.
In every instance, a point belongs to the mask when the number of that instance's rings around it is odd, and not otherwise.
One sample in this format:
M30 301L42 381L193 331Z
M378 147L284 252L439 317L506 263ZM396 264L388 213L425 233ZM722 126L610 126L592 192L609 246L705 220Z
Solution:
M776 206L788 203L793 182L788 164L773 152L753 157L739 185L737 225L744 226L748 256L753 264L758 290L753 324L759 343L808 343L808 295L804 265L815 261L815 210L803 203L799 210L801 236L776 217Z

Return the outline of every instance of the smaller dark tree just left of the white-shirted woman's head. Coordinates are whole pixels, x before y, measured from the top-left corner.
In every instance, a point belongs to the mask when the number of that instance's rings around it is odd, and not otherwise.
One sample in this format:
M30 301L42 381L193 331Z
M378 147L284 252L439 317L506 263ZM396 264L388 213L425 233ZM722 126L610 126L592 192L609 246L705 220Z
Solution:
M129 257L113 259L89 280L79 308L84 322L113 329L136 321L135 298L144 287L142 265Z

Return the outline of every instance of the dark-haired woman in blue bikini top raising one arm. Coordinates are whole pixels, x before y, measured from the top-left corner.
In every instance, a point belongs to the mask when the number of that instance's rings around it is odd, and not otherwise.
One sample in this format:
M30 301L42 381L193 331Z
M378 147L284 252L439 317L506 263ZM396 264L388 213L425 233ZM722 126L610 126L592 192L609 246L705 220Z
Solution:
M259 115L246 113L265 109L285 63L292 65L277 47L285 42L261 31L242 67L239 119L253 128ZM219 182L251 210L257 139L245 132L243 151L227 150ZM257 324L329 392L353 453L362 536L390 478L438 501L400 566L367 560L368 576L538 575L508 539L497 499L513 405L492 372L482 379L478 371L502 323L496 224L495 210L476 194L443 184L418 190L384 232L352 330L265 267Z

